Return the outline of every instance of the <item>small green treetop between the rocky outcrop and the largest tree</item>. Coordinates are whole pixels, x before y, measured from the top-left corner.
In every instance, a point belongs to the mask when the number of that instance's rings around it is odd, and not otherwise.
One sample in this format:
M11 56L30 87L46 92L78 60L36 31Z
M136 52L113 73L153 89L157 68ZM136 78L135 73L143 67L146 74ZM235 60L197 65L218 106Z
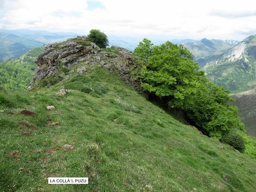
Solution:
M144 61L147 61L151 55L153 55L153 43L150 40L144 38L134 50L134 55L141 57Z

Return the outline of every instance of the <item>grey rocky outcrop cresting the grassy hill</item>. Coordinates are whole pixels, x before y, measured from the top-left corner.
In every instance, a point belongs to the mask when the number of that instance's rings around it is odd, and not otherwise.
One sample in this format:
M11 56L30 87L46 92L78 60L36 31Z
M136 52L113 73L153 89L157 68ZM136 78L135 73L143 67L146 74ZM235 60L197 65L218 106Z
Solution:
M37 68L29 83L28 90L33 90L41 80L52 75L65 76L63 68L68 69L82 61L85 61L82 62L83 66L75 71L80 75L87 71L87 65L101 65L110 72L113 72L115 68L125 82L138 87L138 82L132 80L130 74L130 69L136 68L132 52L117 46L112 46L111 50L106 51L95 43L87 42L85 36L47 45L45 50L36 58Z

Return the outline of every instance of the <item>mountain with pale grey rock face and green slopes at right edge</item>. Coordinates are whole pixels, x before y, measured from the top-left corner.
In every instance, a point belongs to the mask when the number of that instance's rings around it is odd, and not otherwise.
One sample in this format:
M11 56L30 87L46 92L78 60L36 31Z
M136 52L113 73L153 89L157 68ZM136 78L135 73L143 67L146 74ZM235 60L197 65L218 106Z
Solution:
M256 88L255 64L256 36L249 36L208 58L203 70L211 81L235 93Z

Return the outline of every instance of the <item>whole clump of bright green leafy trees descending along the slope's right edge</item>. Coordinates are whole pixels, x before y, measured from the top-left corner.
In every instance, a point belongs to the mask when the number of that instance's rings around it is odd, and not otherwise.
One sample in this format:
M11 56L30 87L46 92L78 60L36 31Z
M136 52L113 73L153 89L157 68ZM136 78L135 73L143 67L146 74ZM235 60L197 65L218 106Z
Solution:
M147 42L144 40L135 50L149 53ZM137 54L146 61L141 70L144 91L182 109L206 135L221 139L232 129L244 131L237 107L229 104L229 91L211 83L185 47L167 41L150 50L150 55Z

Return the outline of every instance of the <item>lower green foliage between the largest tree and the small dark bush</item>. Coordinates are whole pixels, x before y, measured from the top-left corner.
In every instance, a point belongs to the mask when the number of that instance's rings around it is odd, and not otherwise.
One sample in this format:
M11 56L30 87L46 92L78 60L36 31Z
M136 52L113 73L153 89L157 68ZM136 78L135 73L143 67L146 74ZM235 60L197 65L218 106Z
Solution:
M238 117L238 109L229 104L233 99L229 91L214 85L206 78L196 90L182 102L174 101L173 105L186 111L187 116L209 136L219 139L225 132L235 127L244 130Z

